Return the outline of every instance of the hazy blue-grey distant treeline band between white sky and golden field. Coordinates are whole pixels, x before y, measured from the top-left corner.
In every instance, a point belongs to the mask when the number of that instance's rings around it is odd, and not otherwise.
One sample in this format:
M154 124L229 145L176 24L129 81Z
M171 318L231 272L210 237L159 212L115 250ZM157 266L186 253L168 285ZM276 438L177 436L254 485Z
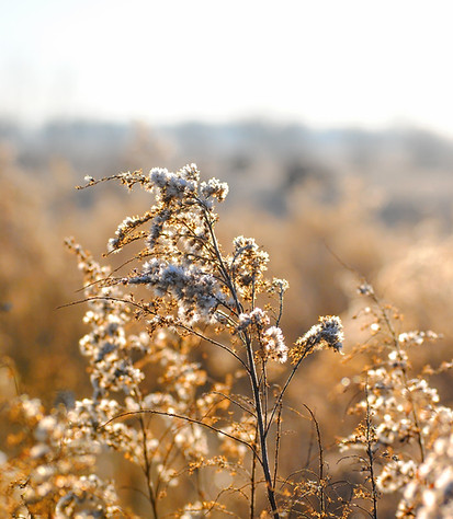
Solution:
M450 223L452 217L453 140L412 127L371 131L262 120L155 127L54 120L27 128L0 120L0 142L12 147L25 169L45 169L58 158L78 175L196 162L239 184L234 201L247 198L278 215L286 211L287 194L307 181L322 183L328 200L340 178L359 176L380 189L385 198L381 214L389 223L427 217Z

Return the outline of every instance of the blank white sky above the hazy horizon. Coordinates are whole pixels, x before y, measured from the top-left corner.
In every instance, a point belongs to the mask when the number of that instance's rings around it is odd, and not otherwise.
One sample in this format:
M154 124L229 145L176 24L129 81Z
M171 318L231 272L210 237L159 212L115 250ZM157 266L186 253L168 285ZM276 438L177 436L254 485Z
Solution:
M453 0L0 0L0 116L453 136Z

